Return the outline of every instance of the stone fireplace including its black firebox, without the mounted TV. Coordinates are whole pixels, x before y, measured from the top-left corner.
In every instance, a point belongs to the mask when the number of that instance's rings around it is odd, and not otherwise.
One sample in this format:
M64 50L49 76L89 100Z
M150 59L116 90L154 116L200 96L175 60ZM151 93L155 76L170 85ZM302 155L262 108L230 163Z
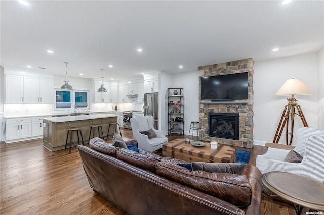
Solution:
M233 73L244 73L244 72L248 73L248 79L249 79L248 99L234 100L234 101L212 101L212 100L208 101L208 100L200 99L201 96L200 77L225 75L225 74L233 74ZM199 74L199 140L205 140L205 141L215 140L218 143L225 144L225 145L252 148L253 147L253 59L249 58L249 59L243 59L238 61L231 61L226 63L199 67L198 74ZM233 118L234 115L237 116L235 123ZM210 118L210 116L214 116L214 118ZM224 119L224 116L227 117ZM233 132L234 135L232 135Z

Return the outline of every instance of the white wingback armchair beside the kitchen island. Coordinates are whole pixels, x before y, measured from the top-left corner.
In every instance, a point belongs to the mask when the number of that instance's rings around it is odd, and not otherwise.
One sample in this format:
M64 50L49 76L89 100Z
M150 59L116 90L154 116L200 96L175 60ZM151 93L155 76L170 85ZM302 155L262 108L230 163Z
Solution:
M137 140L138 147L146 151L155 151L162 148L162 145L168 142L168 138L160 130L154 129L154 119L152 116L135 116L131 118L133 138ZM148 139L148 136L141 134L140 131L152 129L156 137Z

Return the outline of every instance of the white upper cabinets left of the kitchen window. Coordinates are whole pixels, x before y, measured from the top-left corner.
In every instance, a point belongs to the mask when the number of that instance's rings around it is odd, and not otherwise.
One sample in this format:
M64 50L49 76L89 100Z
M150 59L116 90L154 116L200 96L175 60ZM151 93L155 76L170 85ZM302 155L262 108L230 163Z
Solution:
M53 80L51 74L5 68L5 97L7 104L52 103Z

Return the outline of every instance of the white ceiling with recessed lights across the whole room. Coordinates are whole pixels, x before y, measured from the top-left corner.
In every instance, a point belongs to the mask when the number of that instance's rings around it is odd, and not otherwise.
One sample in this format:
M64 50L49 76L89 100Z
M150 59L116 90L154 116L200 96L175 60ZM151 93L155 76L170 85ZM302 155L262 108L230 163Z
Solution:
M3 66L121 80L324 46L324 1L27 2L0 2Z

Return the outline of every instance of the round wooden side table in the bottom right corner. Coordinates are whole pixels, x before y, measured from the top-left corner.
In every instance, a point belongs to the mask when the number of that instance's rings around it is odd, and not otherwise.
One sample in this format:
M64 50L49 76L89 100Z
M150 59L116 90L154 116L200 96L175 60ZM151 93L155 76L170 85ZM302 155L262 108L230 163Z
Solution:
M265 173L262 183L274 194L292 202L298 215L303 207L324 211L324 184L286 172Z

